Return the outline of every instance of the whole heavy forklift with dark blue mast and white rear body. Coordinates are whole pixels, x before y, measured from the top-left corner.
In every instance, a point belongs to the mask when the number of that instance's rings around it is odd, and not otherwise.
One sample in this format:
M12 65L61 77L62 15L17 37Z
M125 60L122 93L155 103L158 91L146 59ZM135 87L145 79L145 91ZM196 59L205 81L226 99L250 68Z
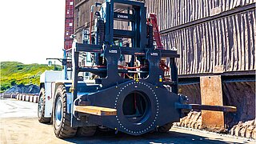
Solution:
M92 7L98 7L94 32L90 26L88 43L74 38L70 73L64 54L63 71L41 76L39 122L52 121L58 138L92 136L97 129L132 135L170 130L182 117L182 109L196 106L186 104L186 96L178 94L175 58L179 54L163 49L155 15L146 18L144 2L131 0L106 0ZM126 22L126 30L116 29L115 22ZM79 65L82 54L93 55L93 64ZM94 78L83 80L80 73Z

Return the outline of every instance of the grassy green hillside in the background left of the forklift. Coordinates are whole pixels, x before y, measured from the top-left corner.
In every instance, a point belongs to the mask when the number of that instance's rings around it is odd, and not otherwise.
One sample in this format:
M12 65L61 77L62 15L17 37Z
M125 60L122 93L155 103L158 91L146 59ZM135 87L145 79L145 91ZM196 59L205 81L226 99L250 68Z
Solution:
M61 66L56 66L57 70L62 70ZM54 70L54 66L42 64L25 65L21 62L1 62L0 64L0 92L15 85L35 84L39 85L40 75L45 70Z

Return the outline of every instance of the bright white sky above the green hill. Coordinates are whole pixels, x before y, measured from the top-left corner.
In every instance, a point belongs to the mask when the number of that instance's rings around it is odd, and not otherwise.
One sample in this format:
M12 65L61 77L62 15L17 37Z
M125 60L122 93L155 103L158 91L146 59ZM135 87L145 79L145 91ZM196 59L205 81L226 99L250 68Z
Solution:
M0 16L1 62L62 58L65 0L2 1Z

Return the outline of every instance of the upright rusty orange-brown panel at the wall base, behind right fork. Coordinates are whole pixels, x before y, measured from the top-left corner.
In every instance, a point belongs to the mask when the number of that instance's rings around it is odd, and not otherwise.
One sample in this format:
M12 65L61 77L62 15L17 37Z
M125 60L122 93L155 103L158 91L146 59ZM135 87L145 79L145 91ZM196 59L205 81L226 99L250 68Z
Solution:
M202 105L223 106L221 76L200 78ZM202 125L208 129L224 128L224 114L220 111L202 110Z

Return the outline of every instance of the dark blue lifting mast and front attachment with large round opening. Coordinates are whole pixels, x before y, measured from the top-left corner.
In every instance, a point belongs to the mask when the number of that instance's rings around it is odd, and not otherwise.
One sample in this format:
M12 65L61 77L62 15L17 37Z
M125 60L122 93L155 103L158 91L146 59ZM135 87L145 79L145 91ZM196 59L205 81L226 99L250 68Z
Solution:
M62 122L63 125L54 127L56 136L70 137L77 128L82 129L82 134L88 135L96 130L95 126L133 135L152 130L168 131L171 123L177 122L181 116L181 111L174 108L174 103L180 101L174 62L179 57L177 51L155 48L153 29L146 21L144 2L108 0L97 6L100 11L96 12L98 19L95 22L94 44L76 43L72 50L73 84L66 83L66 91L62 93L67 102L64 113L70 114L70 118L62 114L67 120ZM114 22L126 22L129 29L114 29ZM126 42L126 46L117 44L120 40ZM79 54L85 52L95 55L96 66L78 66ZM124 57L130 58L130 62L127 62L129 67L134 67L136 60L141 67L137 67L137 70L120 68L118 61ZM170 59L169 81L164 79L164 71L159 67L162 58ZM79 83L79 72L97 75L96 84ZM166 89L165 86L170 88ZM54 102L57 102L55 99ZM75 111L74 106L107 107L117 110L117 114L85 114ZM54 110L57 109L54 106ZM62 120L58 115L54 116L54 121L56 119Z

